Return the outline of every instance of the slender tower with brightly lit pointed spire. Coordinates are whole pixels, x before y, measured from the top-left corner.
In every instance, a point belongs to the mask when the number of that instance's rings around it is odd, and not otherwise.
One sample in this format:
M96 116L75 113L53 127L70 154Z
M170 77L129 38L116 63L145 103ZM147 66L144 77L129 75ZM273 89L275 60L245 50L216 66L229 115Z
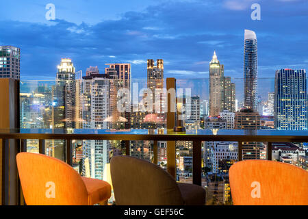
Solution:
M216 52L209 62L209 116L218 116L222 102L222 77L224 65L218 61Z

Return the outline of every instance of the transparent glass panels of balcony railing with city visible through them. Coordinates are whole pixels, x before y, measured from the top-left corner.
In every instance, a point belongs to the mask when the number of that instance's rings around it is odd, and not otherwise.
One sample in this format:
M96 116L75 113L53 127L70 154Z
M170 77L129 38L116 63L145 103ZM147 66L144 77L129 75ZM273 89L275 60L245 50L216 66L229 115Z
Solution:
M166 80L147 81L131 79L121 81L103 77L75 81L21 81L21 128L23 129L107 129L114 134L132 129L146 129L146 134L167 127L166 97L177 96L174 109L186 130L210 129L213 135L230 129L279 130L289 127L307 130L307 93L293 94L300 105L287 105L297 109L287 114L288 120L275 120L275 81L258 79L258 92L253 102L254 111L242 110L246 105L244 79L177 79L177 89L166 90ZM156 89L155 88L159 88ZM210 91L211 89L211 91ZM305 92L305 97L301 92ZM248 95L251 92L248 92ZM153 101L154 97L154 101ZM278 98L278 97L277 97ZM280 98L280 97L279 97ZM290 101L290 104L299 102ZM247 100L247 98L246 98ZM284 99L279 99L285 101ZM278 103L277 103L278 104ZM306 111L305 111L306 110ZM303 118L296 125L292 116ZM285 123L290 123L287 126ZM277 124L280 127L277 127ZM166 130L165 130L166 131ZM86 177L103 179L105 166L114 155L125 155L123 140L73 140L73 167ZM27 140L27 151L38 153L38 140ZM231 205L228 171L242 159L268 159L287 162L307 169L307 143L272 143L268 155L268 142L202 142L202 186L207 190L208 205ZM45 153L64 160L64 140L46 140ZM177 181L192 183L192 141L176 142ZM154 141L129 141L131 156L154 161ZM157 142L157 164L167 169L167 142Z

